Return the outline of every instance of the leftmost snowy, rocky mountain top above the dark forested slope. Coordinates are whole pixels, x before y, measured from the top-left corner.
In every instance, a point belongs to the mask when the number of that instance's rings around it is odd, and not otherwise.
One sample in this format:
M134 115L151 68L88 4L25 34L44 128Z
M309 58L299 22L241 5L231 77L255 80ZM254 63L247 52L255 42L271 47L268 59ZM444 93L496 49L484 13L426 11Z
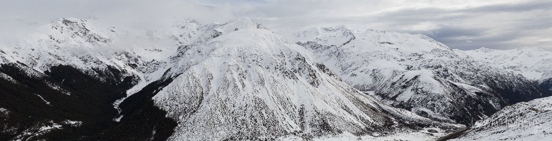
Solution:
M2 41L0 62L21 62L38 72L47 71L53 66L67 65L105 82L120 82L126 77L135 79L132 82L140 82L150 80L146 78L147 74L163 67L163 59L176 50L171 51L163 44L115 47L123 46L120 45L124 44L123 39L136 34L128 35L127 31L114 27L94 26L93 20L60 18L38 29L22 37L22 40ZM148 38L144 40L155 40L151 32L143 35L140 37ZM110 72L113 69L120 70L121 76L102 77L114 76Z

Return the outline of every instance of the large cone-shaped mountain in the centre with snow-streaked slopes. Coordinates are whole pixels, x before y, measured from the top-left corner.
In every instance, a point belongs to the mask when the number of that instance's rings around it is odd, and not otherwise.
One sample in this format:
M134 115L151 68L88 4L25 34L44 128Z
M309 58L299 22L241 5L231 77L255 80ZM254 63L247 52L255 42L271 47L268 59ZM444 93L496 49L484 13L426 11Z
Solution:
M169 140L444 135L448 124L364 95L312 53L248 19L205 31L171 57L173 82L152 99L178 121ZM439 133L433 136L427 128ZM431 135L430 135L431 134Z

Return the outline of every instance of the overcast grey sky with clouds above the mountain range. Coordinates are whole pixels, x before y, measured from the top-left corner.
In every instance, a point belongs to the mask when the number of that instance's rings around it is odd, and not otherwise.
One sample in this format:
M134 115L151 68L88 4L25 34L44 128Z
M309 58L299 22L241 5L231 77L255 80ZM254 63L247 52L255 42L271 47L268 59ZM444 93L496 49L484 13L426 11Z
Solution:
M0 29L15 26L6 24L13 20L42 24L62 17L141 25L174 18L222 23L249 17L284 36L312 26L348 25L360 31L424 34L461 50L552 50L552 1L0 0Z

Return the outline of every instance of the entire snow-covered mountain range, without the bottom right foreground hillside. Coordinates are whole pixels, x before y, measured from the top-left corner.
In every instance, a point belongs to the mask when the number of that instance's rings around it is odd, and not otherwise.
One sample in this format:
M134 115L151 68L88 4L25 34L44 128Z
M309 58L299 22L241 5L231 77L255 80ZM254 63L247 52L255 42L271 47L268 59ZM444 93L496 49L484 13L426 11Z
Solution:
M485 62L423 35L288 40L247 18L37 29L0 39L0 140L434 140L550 95L549 54L527 48Z

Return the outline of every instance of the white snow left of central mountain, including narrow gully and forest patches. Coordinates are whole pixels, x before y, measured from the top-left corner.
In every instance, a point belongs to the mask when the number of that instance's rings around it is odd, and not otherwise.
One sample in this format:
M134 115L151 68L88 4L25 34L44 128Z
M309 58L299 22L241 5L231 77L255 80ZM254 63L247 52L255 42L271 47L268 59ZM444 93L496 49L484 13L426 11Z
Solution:
M26 24L26 23L21 23ZM47 25L29 25L32 34L19 40L0 39L0 64L21 62L38 72L52 66L68 65L105 81L99 72L108 66L122 72L121 78L134 76L137 84L127 96L161 77L167 68L168 56L189 40L203 25L194 20L181 20L157 29L100 26L94 19L60 18ZM164 69L164 70L163 70ZM97 70L97 71L96 71ZM35 77L43 74L30 71ZM161 74L160 74L161 73ZM9 76L0 74L7 80ZM49 84L53 89L59 86ZM62 90L63 91L63 90ZM70 95L69 93L66 93ZM114 106L118 108L119 102Z

